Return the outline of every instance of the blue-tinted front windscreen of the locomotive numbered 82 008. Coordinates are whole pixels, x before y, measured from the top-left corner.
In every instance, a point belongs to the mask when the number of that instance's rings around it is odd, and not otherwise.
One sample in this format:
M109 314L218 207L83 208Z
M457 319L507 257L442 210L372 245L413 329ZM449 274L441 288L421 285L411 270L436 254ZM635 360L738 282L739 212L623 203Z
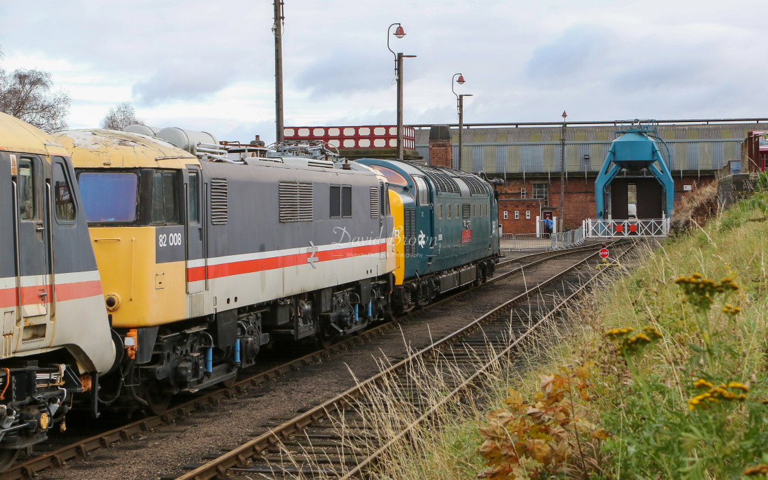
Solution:
M84 171L78 175L78 184L88 222L136 221L137 174Z

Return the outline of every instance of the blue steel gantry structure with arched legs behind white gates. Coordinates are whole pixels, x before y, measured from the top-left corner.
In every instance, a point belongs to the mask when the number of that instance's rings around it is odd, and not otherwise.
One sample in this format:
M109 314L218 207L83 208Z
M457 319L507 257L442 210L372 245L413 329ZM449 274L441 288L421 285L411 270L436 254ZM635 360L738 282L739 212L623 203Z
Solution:
M661 184L664 190L662 209L667 217L671 217L674 213L674 181L669 167L664 163L658 142L664 144L667 155L669 148L664 140L657 136L656 123L649 121L649 124L641 124L640 121L634 121L631 127L617 131L616 134L617 137L611 142L611 149L605 156L598 179L594 180L598 219L606 218L607 187L617 174L624 169L637 172L644 168Z

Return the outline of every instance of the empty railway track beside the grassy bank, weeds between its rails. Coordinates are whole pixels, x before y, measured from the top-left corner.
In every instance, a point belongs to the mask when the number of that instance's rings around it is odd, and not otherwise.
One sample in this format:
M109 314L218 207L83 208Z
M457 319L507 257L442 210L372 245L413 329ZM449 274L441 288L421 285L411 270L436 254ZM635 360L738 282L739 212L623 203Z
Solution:
M594 247L593 247L594 249ZM626 253L630 250L627 247ZM623 254L623 253L622 253ZM502 356L508 355L519 343L527 339L538 326L557 315L575 296L600 276L601 270L589 276L580 285L562 283L551 286L564 274L588 265L597 256L593 253L584 260L551 276L543 283L532 286L524 293L495 306L452 335L413 353L378 375L348 389L333 399L300 413L251 439L236 449L221 455L179 480L208 480L210 478L356 478L364 475L384 452L406 439L409 432L425 422L446 402L475 384L483 373ZM511 272L510 272L511 273ZM505 274L502 274L505 275ZM564 296L564 299L545 307L546 296ZM468 352L472 354L468 354ZM480 358L488 359L481 365ZM413 389L414 365L422 369L471 372L462 382L452 385L452 391L437 404L424 409L429 402ZM399 432L382 435L361 412L370 411L377 404L377 386L386 384L389 396L397 402L409 402L413 411L424 410L414 422ZM380 395L380 393L379 393ZM384 416L387 412L383 413Z

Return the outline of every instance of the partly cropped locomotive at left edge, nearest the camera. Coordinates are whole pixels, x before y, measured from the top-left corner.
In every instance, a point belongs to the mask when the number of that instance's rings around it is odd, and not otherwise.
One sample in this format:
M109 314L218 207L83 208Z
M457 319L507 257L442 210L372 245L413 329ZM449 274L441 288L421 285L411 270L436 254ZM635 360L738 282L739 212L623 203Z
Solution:
M69 154L0 113L0 472L65 429L72 397L98 410L115 348Z

